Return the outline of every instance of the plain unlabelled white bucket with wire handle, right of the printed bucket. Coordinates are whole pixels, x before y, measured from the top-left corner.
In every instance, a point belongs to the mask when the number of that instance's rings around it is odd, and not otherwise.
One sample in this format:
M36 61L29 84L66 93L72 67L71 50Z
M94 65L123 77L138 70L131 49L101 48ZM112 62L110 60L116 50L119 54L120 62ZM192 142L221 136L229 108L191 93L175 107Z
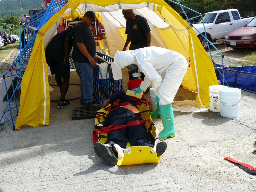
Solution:
M223 88L220 90L220 115L222 117L234 118L239 115L241 101L241 89Z

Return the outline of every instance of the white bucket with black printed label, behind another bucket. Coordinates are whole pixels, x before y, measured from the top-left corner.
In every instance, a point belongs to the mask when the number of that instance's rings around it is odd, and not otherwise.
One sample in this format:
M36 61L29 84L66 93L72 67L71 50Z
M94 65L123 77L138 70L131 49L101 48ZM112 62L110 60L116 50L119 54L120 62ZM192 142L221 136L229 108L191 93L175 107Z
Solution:
M220 112L220 100L219 93L220 89L228 88L224 85L212 85L209 86L209 99L210 99L210 111L212 112Z

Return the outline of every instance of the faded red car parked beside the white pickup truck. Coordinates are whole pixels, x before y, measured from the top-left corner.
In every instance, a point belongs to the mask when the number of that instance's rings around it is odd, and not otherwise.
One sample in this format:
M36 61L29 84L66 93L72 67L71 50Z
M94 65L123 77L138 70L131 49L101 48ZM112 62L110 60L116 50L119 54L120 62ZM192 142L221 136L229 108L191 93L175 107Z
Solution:
M255 48L256 47L256 17L246 26L229 33L223 41L226 47Z

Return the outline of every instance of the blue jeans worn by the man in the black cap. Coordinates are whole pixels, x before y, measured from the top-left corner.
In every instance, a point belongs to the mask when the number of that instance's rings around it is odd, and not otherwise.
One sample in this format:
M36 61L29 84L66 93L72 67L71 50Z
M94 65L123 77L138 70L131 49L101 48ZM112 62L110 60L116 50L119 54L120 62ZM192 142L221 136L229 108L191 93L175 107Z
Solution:
M76 72L81 81L81 98L80 103L85 104L88 102L92 102L92 94L93 94L93 69L90 63L80 63L74 61L74 65L76 67Z

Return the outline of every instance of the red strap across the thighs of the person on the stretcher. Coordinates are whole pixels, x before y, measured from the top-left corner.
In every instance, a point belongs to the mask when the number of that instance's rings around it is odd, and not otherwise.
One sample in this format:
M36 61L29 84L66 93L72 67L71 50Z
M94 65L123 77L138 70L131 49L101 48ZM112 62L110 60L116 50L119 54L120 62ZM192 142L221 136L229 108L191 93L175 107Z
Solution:
M153 122L151 119L141 120L141 121L136 120L136 121L128 122L125 125L110 125L110 126L107 126L107 127L103 127L102 129L94 129L93 133L92 133L93 144L95 144L98 141L98 139L97 139L97 131L98 131L98 135L100 136L103 133L109 133L109 132L117 130L117 129L123 129L123 128L127 127L127 126L139 125L139 124L145 123L147 121L151 122L151 123Z

